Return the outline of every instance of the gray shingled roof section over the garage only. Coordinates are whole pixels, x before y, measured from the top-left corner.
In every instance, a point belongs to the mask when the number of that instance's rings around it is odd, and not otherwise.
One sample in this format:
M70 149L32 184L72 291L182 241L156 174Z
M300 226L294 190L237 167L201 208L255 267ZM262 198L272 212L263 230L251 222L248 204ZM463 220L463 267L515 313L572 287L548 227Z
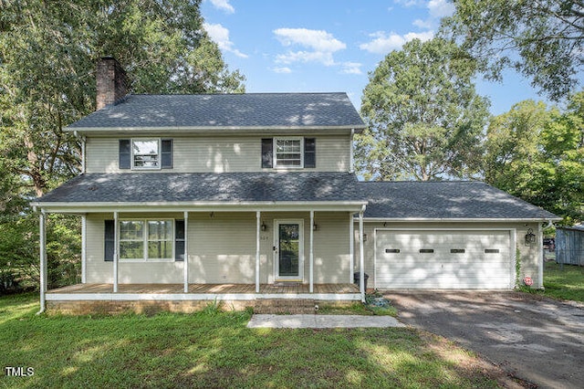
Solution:
M360 183L369 199L365 217L435 219L558 219L480 182Z

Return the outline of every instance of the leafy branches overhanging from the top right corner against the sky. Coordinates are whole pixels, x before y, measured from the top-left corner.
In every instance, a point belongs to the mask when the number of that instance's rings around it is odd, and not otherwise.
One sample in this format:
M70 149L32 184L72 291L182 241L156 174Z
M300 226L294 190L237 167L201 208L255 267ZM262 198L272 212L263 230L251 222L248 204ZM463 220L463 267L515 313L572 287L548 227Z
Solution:
M443 35L457 38L489 79L515 68L552 100L568 97L584 67L581 0L453 0Z

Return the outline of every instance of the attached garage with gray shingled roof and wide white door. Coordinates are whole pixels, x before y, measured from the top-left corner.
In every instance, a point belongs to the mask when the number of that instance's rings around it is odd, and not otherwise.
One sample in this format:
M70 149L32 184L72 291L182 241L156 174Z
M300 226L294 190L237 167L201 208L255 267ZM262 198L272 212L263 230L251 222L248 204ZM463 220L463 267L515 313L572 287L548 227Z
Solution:
M474 181L360 185L368 288L513 289L527 277L543 287L542 228L558 216Z

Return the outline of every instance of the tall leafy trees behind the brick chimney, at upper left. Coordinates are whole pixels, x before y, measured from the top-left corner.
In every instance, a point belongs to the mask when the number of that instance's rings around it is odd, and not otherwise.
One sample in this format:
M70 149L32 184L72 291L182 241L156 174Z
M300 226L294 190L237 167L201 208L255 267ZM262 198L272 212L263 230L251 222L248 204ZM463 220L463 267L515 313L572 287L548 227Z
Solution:
M135 93L243 91L203 30L200 1L41 0L0 4L0 158L42 195L77 173L62 131L94 110L95 64L113 55Z

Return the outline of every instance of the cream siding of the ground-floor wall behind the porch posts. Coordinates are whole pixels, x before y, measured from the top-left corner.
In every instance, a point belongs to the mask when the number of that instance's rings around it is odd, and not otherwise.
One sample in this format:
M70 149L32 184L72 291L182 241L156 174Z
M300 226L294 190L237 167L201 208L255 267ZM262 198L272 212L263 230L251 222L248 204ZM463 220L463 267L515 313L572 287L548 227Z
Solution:
M138 215L137 215L138 216ZM182 214L140 215L145 219L183 218ZM104 260L104 220L111 214L87 216L87 282L112 283L113 262ZM122 218L130 219L123 214ZM137 217L136 217L137 218ZM266 231L260 232L260 282L275 281L274 220L302 219L304 222L305 266L303 279L309 279L308 212L262 213ZM188 222L189 282L255 283L255 213L190 213ZM315 213L314 282L346 283L349 267L349 214ZM121 261L120 283L182 283L183 261Z

